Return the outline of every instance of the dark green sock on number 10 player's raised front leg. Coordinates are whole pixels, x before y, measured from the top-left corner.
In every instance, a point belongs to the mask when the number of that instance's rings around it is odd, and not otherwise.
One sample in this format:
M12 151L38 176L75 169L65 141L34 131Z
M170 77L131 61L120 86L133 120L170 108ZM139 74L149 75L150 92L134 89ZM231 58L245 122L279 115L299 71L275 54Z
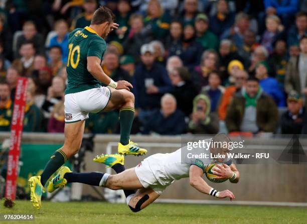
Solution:
M123 107L119 110L120 140L122 145L129 143L130 131L134 119L134 108Z

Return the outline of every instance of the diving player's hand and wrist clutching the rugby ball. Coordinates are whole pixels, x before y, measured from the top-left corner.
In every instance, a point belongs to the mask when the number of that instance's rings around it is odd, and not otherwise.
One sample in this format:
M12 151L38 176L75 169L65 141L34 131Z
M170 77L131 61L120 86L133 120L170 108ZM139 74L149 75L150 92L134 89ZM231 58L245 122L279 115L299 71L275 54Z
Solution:
M222 165L216 164L216 167L214 167L212 170L214 174L219 175L219 177L216 177L216 179L227 178L231 183L239 182L240 172L235 164L231 164L230 166L225 163Z

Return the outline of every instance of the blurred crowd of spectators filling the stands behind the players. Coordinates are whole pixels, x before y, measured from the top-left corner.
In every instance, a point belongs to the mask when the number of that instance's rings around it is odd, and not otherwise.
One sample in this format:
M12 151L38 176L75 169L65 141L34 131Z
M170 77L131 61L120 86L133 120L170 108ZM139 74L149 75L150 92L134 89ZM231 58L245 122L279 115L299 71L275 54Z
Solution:
M0 1L0 131L18 77L28 78L25 132L64 132L68 35L99 6L119 28L102 68L133 84L132 134L307 134L307 1ZM118 133L118 111L85 132Z

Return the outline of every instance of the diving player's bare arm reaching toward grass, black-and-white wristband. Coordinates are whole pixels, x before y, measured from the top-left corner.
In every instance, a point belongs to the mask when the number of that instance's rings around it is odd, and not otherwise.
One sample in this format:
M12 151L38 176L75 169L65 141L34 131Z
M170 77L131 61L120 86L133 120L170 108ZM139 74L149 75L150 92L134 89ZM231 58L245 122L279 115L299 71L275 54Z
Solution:
M198 190L199 192L211 195L214 189L210 187L206 183L206 181L203 179L203 174L204 174L204 171L202 168L196 165L191 165L190 173L189 173L190 185L194 187L196 190ZM235 198L235 196L230 190L223 190L223 191L217 192L214 196L218 198L229 197L230 200L233 200Z

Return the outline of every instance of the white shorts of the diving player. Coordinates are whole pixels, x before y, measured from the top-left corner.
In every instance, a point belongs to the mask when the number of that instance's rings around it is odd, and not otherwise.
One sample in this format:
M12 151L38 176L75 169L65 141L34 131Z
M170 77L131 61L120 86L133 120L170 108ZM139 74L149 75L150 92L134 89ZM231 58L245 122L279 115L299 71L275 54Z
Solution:
M155 154L147 157L135 168L136 176L144 188L150 187L158 194L162 194L163 191L171 185L175 180L166 176L166 172L161 158L165 154Z

